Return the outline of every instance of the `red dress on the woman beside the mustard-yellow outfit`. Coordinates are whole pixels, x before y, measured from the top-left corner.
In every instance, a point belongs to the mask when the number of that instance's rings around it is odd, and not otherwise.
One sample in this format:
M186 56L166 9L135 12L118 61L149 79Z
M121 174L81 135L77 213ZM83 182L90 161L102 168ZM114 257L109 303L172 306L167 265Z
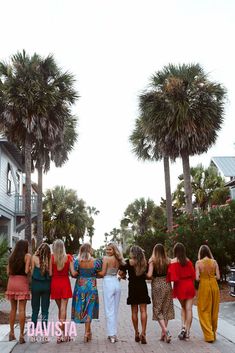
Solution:
M173 298L192 299L195 297L195 270L190 260L185 266L173 262L168 266L167 282L174 282Z

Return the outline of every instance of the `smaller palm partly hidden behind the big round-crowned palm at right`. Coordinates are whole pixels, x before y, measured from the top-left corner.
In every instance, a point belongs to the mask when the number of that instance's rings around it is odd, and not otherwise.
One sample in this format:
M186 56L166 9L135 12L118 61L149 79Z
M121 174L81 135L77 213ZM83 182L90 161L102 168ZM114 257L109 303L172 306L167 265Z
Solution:
M130 141L133 146L133 152L139 159L159 161L163 159L164 176L165 176L165 192L166 192L166 214L167 214L167 229L173 229L173 212L172 212L172 197L171 197L171 181L170 181L170 166L169 157L163 156L161 146L159 145L157 136L149 135L142 124L142 119L136 120L135 129L130 136Z

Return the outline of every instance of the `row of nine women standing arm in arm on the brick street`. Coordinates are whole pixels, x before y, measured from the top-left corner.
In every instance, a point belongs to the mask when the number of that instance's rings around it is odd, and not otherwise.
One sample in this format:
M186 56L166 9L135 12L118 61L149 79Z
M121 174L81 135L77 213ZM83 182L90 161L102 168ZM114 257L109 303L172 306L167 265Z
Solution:
M216 339L219 310L219 269L208 246L202 245L198 261L194 266L186 257L185 247L177 243L170 259L162 244L156 244L152 256L146 261L144 250L132 246L129 259L124 260L118 247L110 243L106 256L95 259L90 244L83 244L76 259L66 254L62 240L57 239L51 248L43 243L32 256L28 253L25 240L17 242L9 263L9 281L6 297L11 301L9 340L15 339L14 323L19 302L20 343L24 343L25 306L30 298L28 273L32 274L32 322L37 325L41 306L42 321L47 325L50 299L56 301L62 334L57 342L69 341L65 336L64 322L67 317L67 304L72 298L71 319L84 323L84 342L92 339L91 322L99 316L99 297L97 278L103 278L103 298L106 317L107 336L111 343L117 342L118 308L121 295L120 280L128 276L127 304L131 306L131 317L135 331L134 339L147 343L147 305L150 304L146 280L151 280L153 320L158 321L160 340L171 342L168 321L174 319L173 298L181 304L182 328L180 340L190 338L192 323L192 304L195 297L194 280L200 281L198 290L198 314L207 342ZM76 278L72 293L69 274ZM172 289L173 283L173 289ZM138 313L140 312L141 331ZM32 340L36 340L33 337ZM44 341L47 342L45 336Z

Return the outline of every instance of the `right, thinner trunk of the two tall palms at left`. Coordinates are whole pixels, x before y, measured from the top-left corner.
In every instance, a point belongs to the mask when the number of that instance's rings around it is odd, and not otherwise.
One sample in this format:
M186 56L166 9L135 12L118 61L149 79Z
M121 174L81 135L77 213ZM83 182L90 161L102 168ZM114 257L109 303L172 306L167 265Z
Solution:
M43 212L42 212L42 161L38 163L38 203L37 203L37 248L43 241Z

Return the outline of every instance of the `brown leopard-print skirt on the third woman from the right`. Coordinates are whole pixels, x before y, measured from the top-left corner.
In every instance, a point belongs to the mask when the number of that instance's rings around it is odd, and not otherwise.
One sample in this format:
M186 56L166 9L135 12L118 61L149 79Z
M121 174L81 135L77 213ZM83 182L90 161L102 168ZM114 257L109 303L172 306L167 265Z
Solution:
M166 276L152 279L153 320L172 320L175 318L171 284Z

